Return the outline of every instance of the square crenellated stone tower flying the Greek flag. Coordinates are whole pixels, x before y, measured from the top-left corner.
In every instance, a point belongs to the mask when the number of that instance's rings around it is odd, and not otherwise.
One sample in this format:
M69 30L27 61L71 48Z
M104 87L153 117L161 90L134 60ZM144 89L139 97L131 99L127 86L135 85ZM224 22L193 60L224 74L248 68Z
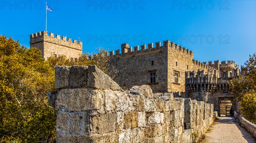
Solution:
M67 58L77 58L82 54L82 42L53 33L41 31L30 35L30 47L36 47L42 51L42 57L48 58L55 55L65 55Z

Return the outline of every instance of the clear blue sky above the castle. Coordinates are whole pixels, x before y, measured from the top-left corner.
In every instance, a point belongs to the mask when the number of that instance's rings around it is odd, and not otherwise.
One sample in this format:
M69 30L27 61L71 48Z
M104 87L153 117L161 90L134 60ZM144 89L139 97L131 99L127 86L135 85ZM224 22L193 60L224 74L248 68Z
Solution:
M29 34L47 31L116 50L169 39L194 52L200 62L243 64L256 52L256 1L180 0L1 0L0 34L29 47Z

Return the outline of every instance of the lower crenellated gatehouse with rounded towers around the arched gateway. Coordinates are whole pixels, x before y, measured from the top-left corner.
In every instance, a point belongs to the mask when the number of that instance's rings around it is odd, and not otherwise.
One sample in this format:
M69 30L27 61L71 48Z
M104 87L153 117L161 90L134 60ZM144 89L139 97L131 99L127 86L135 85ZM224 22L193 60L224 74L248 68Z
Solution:
M232 102L234 111L238 111L238 103L229 88L228 81L232 78L217 78L217 70L214 72L198 70L197 72L186 72L186 92L175 97L192 98L197 101L204 101L214 104L214 111L218 110L220 114L224 114L225 107L220 104L223 99L229 99ZM221 108L222 105L222 108Z

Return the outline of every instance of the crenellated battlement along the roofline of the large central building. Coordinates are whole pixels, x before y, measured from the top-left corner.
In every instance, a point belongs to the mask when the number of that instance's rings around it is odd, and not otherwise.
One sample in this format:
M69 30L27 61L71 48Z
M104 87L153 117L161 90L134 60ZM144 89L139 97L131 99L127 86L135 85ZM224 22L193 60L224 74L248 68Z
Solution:
M116 55L124 56L127 54L143 53L143 52L149 52L153 50L159 50L160 48L172 48L174 50L180 51L181 53L187 54L189 56L193 56L193 52L191 50L183 48L182 46L177 45L174 42L171 42L169 40L163 41L163 46L161 46L161 42L155 42L155 47L154 47L152 42L147 44L147 48L146 48L146 44L140 45L140 49L139 49L139 45L134 46L134 48L132 48L130 47L129 44L124 43L121 45L121 53L119 49L115 50L115 54L114 54L114 51L112 50L110 52L110 56L116 56Z

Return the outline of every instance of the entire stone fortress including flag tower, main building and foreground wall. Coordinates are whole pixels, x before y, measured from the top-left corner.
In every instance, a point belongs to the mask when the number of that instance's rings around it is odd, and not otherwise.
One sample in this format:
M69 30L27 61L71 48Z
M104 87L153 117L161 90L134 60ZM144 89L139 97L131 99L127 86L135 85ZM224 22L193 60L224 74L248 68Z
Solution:
M82 53L82 42L45 31L30 40L46 59ZM123 71L114 81L96 66L55 67L59 92L47 96L57 143L192 143L216 116L239 111L228 84L240 75L233 61L198 62L169 40L109 53L111 67Z

